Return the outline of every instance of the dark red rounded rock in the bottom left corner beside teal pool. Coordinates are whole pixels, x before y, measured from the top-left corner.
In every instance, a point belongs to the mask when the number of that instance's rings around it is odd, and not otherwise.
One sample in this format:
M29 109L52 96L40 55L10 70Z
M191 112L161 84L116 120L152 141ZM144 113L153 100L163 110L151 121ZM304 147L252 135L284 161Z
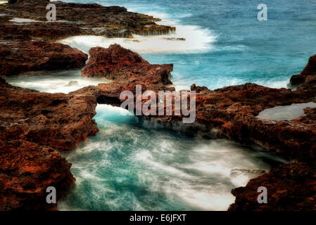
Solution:
M57 198L75 179L70 164L53 148L29 141L0 141L0 211L56 210L46 203L46 188Z

